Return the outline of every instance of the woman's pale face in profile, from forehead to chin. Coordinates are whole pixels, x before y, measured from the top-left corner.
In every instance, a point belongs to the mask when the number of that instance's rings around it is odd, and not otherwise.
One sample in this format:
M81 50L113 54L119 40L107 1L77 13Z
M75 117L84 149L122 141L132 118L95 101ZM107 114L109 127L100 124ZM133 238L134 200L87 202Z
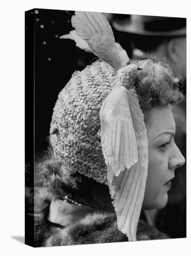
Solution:
M152 108L146 121L149 163L143 209L166 206L174 170L185 163L174 142L175 122L170 106Z

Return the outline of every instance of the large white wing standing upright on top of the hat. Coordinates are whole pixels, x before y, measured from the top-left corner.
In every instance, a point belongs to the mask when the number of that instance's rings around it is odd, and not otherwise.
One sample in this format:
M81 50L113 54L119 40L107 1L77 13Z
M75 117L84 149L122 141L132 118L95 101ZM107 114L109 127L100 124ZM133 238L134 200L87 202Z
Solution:
M77 35L85 40L91 51L116 70L127 65L129 58L115 37L108 20L102 13L75 12L71 19Z

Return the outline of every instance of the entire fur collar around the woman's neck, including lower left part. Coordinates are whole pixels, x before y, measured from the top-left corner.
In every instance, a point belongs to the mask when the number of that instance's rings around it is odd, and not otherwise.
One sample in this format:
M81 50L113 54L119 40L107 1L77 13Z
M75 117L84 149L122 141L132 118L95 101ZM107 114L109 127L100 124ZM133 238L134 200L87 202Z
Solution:
M38 188L34 195L35 247L75 245L89 243L113 243L128 241L117 228L115 213L93 212L65 227L47 220L53 195L45 188ZM169 238L158 229L141 221L138 224L137 240Z

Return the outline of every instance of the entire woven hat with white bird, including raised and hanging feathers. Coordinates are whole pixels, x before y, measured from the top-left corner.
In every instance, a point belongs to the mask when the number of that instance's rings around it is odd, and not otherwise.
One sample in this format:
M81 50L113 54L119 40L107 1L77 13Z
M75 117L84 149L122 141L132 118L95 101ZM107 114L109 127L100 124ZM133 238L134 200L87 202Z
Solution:
M108 184L118 228L136 240L148 165L143 114L134 82L140 68L115 43L102 13L76 12L76 45L100 59L75 72L58 95L50 129L56 159Z

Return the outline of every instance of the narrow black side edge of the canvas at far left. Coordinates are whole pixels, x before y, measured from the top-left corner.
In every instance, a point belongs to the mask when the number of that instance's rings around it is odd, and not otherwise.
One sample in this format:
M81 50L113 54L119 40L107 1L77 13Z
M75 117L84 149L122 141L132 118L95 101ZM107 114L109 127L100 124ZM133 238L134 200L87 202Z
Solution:
M34 10L25 12L25 189L30 188L34 197ZM33 14L32 14L33 11ZM30 29L29 29L30 27ZM27 31L28 30L28 31ZM31 31L30 31L31 30ZM26 193L26 192L25 192ZM34 206L34 200L33 200ZM34 207L33 207L34 209ZM29 217L25 200L25 244L34 247L34 215Z

